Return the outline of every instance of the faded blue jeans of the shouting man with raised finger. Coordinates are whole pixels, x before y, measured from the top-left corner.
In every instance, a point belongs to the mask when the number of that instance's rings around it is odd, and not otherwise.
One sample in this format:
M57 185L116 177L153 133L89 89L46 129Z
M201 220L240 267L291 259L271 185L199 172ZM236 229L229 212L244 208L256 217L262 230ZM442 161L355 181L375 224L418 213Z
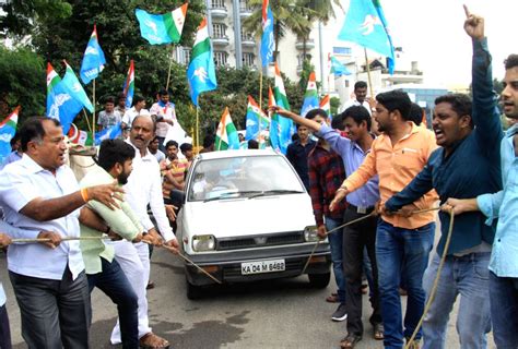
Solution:
M491 252L446 257L435 299L423 322L423 349L445 348L449 313L459 294L457 333L460 348L487 347L486 334L491 330L490 270L487 268L490 257ZM439 262L440 257L435 253L424 274L423 287L426 291L426 300L437 275Z

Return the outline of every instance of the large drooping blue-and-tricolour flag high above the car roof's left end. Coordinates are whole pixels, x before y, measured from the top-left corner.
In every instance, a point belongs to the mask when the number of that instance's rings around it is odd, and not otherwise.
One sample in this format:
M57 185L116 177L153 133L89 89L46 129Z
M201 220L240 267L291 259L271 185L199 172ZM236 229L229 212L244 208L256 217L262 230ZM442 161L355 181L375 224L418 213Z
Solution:
M201 21L196 33L191 60L187 70L187 82L192 104L198 107L198 96L217 87L214 60L212 59L211 39L207 28L207 19Z

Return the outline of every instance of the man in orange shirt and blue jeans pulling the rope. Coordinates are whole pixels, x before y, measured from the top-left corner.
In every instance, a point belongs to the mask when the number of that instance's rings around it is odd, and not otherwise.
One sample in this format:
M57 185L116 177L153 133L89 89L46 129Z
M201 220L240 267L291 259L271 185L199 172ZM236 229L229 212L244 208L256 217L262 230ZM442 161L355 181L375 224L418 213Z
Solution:
M382 134L373 142L362 166L337 191L331 209L375 174L379 176L379 193L385 203L411 182L437 147L433 133L410 121L411 100L407 93L391 91L377 95L376 100L373 112ZM429 208L436 200L437 195L432 191L407 208ZM425 293L422 279L433 248L434 232L434 213L410 217L381 215L378 221L376 258L386 348L402 348L403 337L412 336L423 314ZM405 276L409 294L404 330L399 296L401 275ZM416 339L420 338L421 333ZM351 348L346 344L342 347Z

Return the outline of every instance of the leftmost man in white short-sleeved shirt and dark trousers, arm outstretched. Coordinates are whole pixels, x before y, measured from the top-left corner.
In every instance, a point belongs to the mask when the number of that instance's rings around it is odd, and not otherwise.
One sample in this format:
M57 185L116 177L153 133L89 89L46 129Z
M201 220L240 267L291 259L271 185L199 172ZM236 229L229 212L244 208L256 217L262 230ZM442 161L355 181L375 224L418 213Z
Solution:
M59 121L27 119L20 129L23 156L0 172L4 220L12 238L45 238L11 244L8 266L28 348L89 348L90 296L79 241L79 209L96 200L116 205L114 184L79 190L64 165L67 145ZM21 230L23 228L24 230Z

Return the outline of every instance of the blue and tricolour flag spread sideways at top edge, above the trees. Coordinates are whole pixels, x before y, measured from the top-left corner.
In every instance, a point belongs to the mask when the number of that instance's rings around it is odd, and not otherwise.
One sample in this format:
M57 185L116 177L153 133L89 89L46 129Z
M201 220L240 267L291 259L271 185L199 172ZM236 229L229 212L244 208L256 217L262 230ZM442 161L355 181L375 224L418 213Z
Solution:
M140 24L140 34L151 45L178 43L184 29L187 14L187 3L164 14L151 14L137 9L136 15Z

